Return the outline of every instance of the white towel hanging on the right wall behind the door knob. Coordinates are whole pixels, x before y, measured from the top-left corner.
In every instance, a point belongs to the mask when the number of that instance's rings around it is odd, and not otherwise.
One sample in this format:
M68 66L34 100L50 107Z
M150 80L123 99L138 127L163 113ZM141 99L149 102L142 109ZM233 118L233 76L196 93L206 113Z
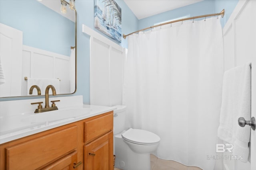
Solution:
M224 73L222 106L218 137L234 145L233 155L249 156L250 126L240 127L238 118L250 120L251 116L251 68L250 63L232 68Z

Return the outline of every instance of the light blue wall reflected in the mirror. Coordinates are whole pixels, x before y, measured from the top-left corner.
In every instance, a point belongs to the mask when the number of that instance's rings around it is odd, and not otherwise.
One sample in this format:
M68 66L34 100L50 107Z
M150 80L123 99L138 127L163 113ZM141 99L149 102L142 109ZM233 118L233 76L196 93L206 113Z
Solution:
M24 45L67 56L75 45L74 22L36 0L0 0L0 22L22 31Z

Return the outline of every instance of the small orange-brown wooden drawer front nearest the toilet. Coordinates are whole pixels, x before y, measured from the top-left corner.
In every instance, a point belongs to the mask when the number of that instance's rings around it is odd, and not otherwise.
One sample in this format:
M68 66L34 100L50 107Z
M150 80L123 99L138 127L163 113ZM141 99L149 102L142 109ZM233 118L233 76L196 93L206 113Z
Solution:
M91 141L100 135L113 130L113 112L84 123L84 142Z

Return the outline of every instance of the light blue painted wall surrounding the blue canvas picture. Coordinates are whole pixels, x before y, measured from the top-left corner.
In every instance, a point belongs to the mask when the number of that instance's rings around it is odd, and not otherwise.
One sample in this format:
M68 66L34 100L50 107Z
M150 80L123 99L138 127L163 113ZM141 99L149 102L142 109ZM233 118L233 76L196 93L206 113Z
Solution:
M138 19L123 0L116 0L122 8L122 34L138 30ZM84 104L90 103L90 37L82 33L82 24L94 29L111 41L110 37L94 28L94 0L76 0L78 13L77 31L77 91L74 95L83 95ZM122 47L127 47L127 41L122 38ZM99 68L100 69L100 68Z

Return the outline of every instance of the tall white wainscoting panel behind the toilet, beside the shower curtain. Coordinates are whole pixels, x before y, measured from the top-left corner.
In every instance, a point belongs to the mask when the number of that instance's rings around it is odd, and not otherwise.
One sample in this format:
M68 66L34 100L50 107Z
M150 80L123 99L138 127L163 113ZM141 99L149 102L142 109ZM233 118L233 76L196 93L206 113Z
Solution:
M90 104L122 104L122 81L125 49L86 25L90 35Z

